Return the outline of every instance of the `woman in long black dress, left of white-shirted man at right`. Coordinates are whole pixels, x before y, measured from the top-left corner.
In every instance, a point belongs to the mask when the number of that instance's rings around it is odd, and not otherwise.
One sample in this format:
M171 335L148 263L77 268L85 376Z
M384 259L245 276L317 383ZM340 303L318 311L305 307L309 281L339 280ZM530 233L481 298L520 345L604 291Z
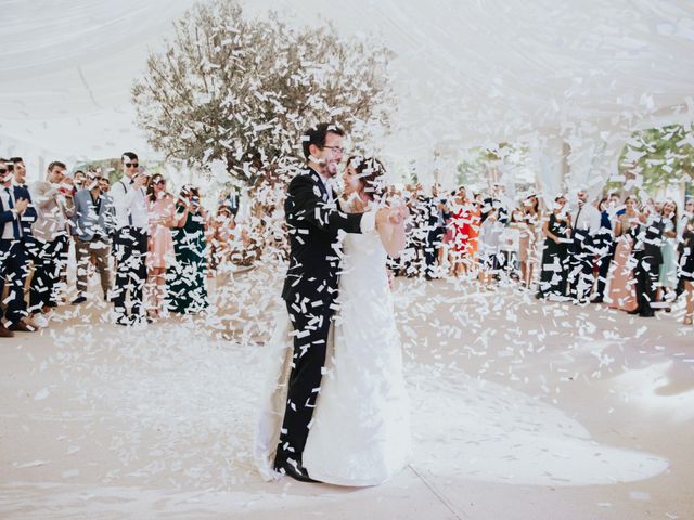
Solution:
M542 251L542 264L540 265L540 288L536 298L545 298L549 295L566 296L566 283L568 280L568 238L570 233L570 219L566 212L566 198L560 195L554 199L555 208L544 223L544 250Z

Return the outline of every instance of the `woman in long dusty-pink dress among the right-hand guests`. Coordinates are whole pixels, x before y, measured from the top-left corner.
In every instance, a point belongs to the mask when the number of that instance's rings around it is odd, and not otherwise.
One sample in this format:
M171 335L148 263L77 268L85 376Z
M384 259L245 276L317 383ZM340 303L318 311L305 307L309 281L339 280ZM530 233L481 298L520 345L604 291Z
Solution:
M637 306L637 284L633 277L634 260L631 250L633 249L633 233L639 229L639 211L637 210L637 199L633 196L625 200L625 213L619 216L615 226L615 237L617 248L615 259L609 269L609 302L612 309L622 311L633 311Z

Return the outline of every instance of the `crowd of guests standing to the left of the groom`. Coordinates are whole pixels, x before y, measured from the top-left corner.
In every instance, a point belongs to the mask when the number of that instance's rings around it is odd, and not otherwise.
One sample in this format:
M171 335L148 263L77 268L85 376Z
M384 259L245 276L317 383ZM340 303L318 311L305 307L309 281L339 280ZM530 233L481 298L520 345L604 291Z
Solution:
M76 297L69 303L103 298L117 324L208 306L206 278L228 270L248 244L235 222L239 195L223 193L216 214L207 214L196 187L175 196L137 154L124 153L121 162L113 185L100 171L70 176L61 161L27 185L23 159L0 158L0 337L46 327L53 309L67 303L70 255ZM94 274L99 296L89 294Z

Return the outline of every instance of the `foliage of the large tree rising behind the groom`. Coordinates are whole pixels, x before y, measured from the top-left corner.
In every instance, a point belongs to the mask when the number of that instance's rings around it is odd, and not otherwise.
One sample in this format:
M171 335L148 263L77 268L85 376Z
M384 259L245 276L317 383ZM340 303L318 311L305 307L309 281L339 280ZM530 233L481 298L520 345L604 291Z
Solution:
M246 20L237 3L213 0L150 54L132 99L155 150L189 166L221 160L254 185L301 160L300 135L311 125L334 120L359 139L387 128L388 57L331 26L294 28L277 13Z

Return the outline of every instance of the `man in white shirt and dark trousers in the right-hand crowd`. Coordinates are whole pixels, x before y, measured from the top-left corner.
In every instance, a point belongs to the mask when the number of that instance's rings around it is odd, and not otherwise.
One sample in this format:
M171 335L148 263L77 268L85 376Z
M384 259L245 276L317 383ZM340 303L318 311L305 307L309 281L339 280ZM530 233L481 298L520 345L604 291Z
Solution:
M570 218L569 294L574 298L574 302L586 303L594 282L595 249L593 240L600 232L600 210L588 203L586 190L578 192L576 209L571 211Z

